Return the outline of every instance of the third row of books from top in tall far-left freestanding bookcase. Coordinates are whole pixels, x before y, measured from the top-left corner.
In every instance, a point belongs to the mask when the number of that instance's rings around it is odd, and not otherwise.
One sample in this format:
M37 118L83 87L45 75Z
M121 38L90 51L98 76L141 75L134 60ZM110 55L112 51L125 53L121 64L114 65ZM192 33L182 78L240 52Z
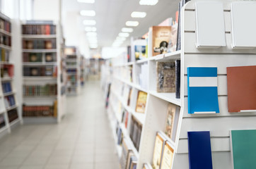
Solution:
M23 52L23 62L55 62L57 61L56 53L26 53Z

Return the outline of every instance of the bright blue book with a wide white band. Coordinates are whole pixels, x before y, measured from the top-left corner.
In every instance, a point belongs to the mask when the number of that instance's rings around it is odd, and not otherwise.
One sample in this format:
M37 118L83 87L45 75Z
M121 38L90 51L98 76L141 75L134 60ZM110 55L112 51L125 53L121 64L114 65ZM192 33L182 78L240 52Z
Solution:
M188 113L219 113L217 68L187 68Z

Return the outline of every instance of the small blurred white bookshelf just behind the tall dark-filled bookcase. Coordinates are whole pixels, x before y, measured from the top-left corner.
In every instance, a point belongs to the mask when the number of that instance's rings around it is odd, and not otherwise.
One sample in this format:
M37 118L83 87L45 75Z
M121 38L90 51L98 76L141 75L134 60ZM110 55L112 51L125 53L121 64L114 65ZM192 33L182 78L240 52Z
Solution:
M66 95L80 92L80 54L74 46L66 46Z

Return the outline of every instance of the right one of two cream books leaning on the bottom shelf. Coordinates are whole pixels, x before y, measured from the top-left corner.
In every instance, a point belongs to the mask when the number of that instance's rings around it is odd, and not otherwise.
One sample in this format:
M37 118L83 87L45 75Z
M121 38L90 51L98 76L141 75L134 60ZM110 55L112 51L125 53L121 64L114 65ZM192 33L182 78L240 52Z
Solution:
M173 148L170 146L170 142L165 142L163 148L163 157L161 160L161 169L171 169L173 165Z

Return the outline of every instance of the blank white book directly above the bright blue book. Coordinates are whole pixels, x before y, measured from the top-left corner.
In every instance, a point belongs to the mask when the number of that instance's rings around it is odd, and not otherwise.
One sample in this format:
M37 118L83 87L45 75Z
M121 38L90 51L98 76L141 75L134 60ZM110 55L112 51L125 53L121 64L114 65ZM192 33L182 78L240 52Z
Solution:
M223 3L197 2L195 7L197 47L226 46Z

